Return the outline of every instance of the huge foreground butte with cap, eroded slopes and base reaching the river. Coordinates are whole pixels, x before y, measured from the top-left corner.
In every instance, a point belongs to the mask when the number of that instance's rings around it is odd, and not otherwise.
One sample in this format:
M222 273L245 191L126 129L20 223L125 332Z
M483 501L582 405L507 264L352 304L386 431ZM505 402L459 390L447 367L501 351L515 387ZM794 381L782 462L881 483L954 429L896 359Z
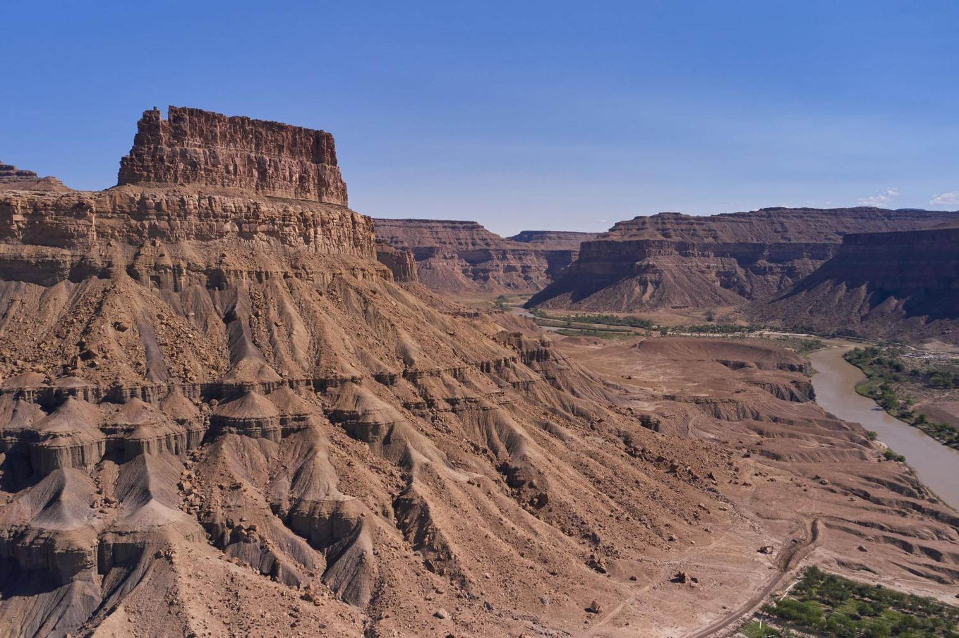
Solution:
M0 192L0 635L665 637L812 559L954 595L956 513L795 353L467 312L320 131L147 111L120 181Z

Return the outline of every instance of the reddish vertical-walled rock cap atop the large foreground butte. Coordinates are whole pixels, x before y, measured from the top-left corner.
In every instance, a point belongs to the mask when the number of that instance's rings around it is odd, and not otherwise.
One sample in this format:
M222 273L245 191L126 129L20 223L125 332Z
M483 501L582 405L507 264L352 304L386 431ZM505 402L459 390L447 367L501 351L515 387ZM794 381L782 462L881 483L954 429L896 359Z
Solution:
M333 135L199 108L144 111L118 184L191 185L346 206Z

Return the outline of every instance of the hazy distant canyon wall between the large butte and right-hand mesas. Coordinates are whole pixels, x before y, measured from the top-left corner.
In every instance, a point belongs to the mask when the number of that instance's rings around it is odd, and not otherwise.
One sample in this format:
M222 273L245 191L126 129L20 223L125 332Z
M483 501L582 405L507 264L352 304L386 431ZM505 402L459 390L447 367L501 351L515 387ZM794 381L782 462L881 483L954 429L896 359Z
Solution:
M377 238L412 252L431 289L535 292L562 276L591 233L524 231L503 239L475 221L374 219Z

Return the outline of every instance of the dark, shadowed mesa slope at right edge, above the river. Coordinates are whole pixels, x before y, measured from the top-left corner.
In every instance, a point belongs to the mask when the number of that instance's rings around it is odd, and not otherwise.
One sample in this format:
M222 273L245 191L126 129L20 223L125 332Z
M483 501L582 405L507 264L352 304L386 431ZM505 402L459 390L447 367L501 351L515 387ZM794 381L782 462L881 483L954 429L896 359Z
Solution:
M959 230L847 235L835 257L768 302L761 321L873 338L959 338Z

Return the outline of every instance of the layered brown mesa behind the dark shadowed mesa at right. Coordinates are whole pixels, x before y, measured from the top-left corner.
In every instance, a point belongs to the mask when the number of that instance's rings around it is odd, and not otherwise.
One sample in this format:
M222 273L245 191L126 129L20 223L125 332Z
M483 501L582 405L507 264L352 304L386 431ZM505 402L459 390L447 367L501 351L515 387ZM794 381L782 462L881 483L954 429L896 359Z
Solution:
M711 308L768 299L811 274L849 233L921 229L955 213L876 208L762 209L621 221L582 243L566 275L529 306Z

